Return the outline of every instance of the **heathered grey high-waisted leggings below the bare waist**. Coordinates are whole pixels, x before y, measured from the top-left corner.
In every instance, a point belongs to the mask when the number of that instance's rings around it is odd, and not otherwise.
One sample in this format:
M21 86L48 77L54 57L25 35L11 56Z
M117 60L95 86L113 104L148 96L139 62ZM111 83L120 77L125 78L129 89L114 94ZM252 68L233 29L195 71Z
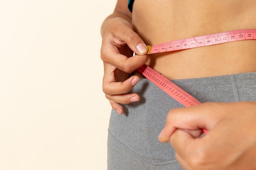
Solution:
M173 80L200 102L256 101L256 72ZM108 170L183 170L169 143L157 140L172 108L183 107L148 79L132 89L139 102L112 110L108 134Z

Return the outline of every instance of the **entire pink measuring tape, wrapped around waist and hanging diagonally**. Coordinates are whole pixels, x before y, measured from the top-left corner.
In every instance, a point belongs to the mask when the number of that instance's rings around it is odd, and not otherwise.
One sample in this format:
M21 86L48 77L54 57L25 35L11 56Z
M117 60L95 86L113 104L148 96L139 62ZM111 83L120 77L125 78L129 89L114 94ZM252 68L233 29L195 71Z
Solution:
M222 33L214 33L193 38L185 38L181 40L165 42L162 44L157 44L155 46L148 46L148 54L192 49L202 46L210 46L240 40L256 40L256 29L227 31ZM182 90L182 88L178 87L169 79L157 73L149 66L144 64L137 70L184 106L188 107L200 104L200 102L191 95L189 95L189 93L186 93L184 90ZM204 133L207 133L207 130L204 129Z

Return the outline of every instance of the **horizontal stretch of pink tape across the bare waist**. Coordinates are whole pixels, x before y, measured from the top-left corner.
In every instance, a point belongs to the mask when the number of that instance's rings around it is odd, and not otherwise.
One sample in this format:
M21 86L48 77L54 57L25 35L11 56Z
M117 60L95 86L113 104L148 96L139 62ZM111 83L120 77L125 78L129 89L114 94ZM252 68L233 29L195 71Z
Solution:
M148 54L192 49L202 46L210 46L240 40L256 40L256 29L243 29L185 38L170 42L164 42L154 46L148 46Z

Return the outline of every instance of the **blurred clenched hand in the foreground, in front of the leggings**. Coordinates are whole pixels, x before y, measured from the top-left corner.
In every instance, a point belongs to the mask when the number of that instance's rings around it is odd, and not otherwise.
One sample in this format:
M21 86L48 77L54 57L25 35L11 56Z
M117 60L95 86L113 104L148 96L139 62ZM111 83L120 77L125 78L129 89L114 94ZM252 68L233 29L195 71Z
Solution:
M159 140L170 141L185 170L255 170L255 122L256 102L178 108L168 113ZM203 128L209 131L199 137Z

